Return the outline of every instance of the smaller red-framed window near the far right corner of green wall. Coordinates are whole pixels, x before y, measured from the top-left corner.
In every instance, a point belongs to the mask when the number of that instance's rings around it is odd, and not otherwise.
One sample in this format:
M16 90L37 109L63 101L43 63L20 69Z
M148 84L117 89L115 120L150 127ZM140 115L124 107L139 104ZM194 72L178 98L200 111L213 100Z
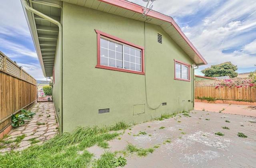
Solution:
M177 80L190 81L190 65L174 60L175 78Z

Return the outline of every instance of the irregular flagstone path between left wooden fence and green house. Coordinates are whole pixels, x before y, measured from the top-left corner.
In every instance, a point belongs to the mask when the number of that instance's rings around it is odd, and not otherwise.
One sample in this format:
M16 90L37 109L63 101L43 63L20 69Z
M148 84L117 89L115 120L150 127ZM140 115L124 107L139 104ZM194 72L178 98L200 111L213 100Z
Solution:
M13 128L8 137L0 140L0 154L10 150L20 151L34 144L42 144L58 133L58 123L52 102L36 103L30 111L36 113L21 127ZM24 136L16 142L17 137ZM33 140L34 139L34 140Z

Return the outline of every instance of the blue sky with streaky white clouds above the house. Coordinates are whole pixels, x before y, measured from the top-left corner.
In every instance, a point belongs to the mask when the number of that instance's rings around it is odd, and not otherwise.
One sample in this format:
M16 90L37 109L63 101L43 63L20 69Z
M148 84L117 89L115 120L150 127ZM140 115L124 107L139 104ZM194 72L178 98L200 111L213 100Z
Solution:
M142 0L130 0L146 6ZM231 61L238 73L256 69L255 0L156 0L157 12L171 16L208 62L196 74L214 64ZM0 6L0 51L37 80L45 80L20 0Z

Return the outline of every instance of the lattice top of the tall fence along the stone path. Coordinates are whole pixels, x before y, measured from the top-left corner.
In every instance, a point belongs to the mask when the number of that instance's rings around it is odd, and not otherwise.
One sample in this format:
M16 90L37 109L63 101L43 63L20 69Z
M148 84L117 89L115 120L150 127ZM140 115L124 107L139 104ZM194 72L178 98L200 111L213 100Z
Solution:
M0 51L0 71L36 85L36 80Z

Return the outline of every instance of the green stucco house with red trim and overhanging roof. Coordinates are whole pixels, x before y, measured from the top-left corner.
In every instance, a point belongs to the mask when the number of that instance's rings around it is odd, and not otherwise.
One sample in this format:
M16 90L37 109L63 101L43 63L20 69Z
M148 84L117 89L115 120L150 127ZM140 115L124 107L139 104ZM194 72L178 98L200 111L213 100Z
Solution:
M207 64L175 21L126 0L21 0L60 131L194 107Z

